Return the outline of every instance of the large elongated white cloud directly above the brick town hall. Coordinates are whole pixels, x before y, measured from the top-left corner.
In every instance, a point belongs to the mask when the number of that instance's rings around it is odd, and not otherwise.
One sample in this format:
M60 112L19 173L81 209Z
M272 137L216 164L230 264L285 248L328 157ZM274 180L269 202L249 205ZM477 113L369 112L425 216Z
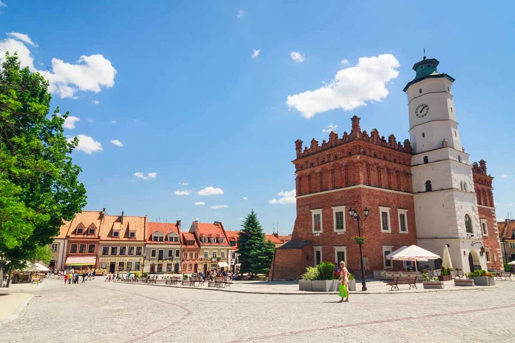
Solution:
M305 118L335 109L350 111L366 106L367 101L381 101L388 95L386 84L399 76L399 61L391 54L360 57L358 64L344 68L324 87L288 95L286 104Z

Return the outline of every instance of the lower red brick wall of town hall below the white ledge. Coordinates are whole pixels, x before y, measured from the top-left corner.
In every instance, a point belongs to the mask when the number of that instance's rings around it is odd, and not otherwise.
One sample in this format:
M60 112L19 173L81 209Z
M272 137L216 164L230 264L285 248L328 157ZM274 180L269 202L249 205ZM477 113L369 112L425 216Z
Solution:
M345 233L334 232L332 207L346 206ZM381 229L380 206L390 207L390 230ZM391 246L393 250L401 246L417 244L413 196L400 192L389 192L380 188L356 186L324 194L316 194L297 198L297 219L293 239L313 241L313 246L322 247L322 260L335 263L334 247L347 247L348 268L356 274L361 270L359 247L352 238L358 234L357 222L348 214L353 207L360 211L367 207L369 217L361 222L361 235L367 237L363 245L363 256L366 260L366 272L383 269L383 246ZM312 209L322 209L322 233L313 234ZM399 232L398 209L407 210L407 233ZM310 255L313 255L311 251ZM277 263L276 263L277 266ZM394 264L394 268L402 268L402 263Z

